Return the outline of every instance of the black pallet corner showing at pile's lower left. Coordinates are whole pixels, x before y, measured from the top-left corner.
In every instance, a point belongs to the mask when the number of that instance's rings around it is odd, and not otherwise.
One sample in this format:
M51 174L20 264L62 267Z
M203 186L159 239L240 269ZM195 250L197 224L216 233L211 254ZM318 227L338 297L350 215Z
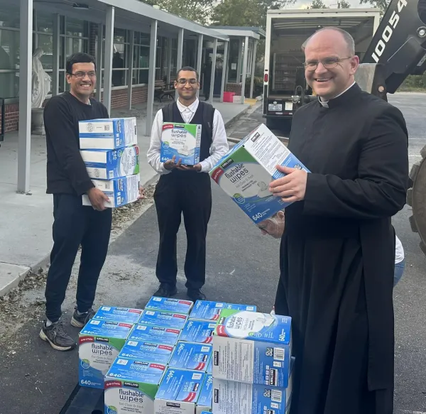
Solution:
M104 414L104 390L77 385L59 414Z

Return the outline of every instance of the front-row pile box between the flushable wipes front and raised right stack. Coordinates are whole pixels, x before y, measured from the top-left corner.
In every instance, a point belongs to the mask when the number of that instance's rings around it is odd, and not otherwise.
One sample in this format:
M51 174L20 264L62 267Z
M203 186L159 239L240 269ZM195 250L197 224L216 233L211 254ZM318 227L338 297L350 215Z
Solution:
M200 371L168 368L155 396L153 414L194 414L205 377Z

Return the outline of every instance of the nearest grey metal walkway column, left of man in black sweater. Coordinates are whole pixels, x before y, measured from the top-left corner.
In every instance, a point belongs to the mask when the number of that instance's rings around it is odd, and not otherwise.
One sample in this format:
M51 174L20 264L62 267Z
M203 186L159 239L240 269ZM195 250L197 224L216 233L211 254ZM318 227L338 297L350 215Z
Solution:
M30 190L33 0L20 1L18 192Z

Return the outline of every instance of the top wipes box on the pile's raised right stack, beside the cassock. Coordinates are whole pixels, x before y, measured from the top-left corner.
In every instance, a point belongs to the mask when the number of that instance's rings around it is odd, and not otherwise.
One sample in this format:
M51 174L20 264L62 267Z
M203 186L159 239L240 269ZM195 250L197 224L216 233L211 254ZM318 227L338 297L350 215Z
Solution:
M223 310L213 334L213 377L288 386L291 318Z

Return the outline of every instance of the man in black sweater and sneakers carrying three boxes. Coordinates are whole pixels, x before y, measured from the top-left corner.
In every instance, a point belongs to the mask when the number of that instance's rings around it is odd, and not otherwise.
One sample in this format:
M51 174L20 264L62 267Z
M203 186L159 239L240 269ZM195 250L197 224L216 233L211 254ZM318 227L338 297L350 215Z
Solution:
M76 346L60 317L77 251L81 245L77 306L71 325L81 328L94 315L92 305L107 257L112 221L112 210L104 207L108 197L94 187L80 155L79 121L109 118L107 108L90 98L96 85L92 56L70 56L66 77L70 92L52 97L44 110L47 193L53 194L54 244L45 288L47 320L40 337L58 351ZM92 207L82 205L84 194L89 196Z

